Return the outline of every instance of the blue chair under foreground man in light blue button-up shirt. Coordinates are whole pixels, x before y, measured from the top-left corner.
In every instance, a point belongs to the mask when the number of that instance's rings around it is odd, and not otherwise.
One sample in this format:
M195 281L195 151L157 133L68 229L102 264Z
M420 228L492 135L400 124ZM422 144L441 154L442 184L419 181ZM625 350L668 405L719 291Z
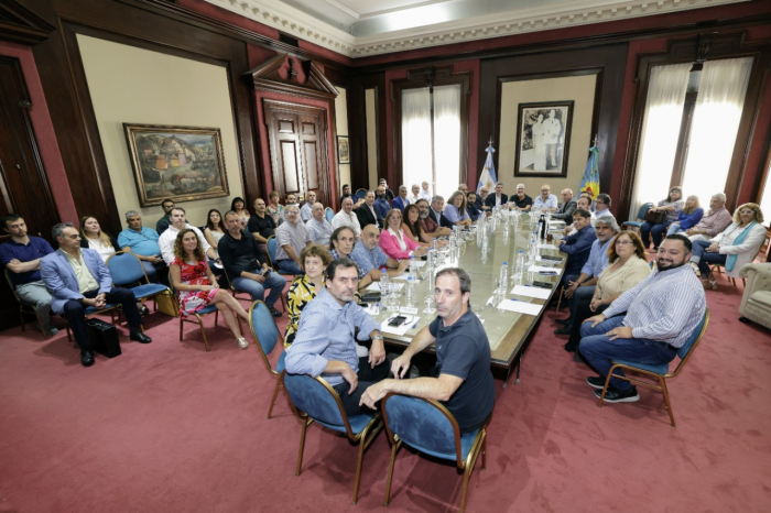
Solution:
M359 498L359 481L361 479L361 463L365 458L365 450L383 428L382 416L380 413L376 413L374 415L361 414L349 417L346 415L343 402L335 389L322 378L311 378L307 374L286 374L284 376L284 386L286 392L289 392L295 412L303 421L295 476L300 476L300 470L303 466L305 433L314 421L332 430L344 433L352 443L359 444L359 458L356 462L354 499L351 501L352 504L356 504Z

